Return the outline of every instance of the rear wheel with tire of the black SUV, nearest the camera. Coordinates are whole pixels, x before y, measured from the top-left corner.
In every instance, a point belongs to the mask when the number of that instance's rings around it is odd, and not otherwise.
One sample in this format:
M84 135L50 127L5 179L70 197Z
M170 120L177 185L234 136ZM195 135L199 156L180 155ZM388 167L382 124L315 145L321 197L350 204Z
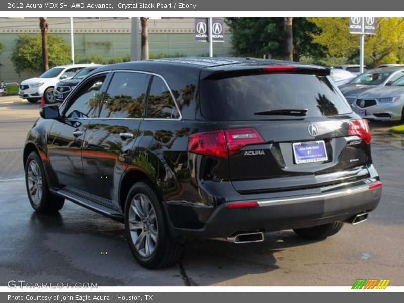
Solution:
M125 231L133 256L145 268L168 267L181 257L183 245L171 239L160 198L150 182L138 182L129 190Z

